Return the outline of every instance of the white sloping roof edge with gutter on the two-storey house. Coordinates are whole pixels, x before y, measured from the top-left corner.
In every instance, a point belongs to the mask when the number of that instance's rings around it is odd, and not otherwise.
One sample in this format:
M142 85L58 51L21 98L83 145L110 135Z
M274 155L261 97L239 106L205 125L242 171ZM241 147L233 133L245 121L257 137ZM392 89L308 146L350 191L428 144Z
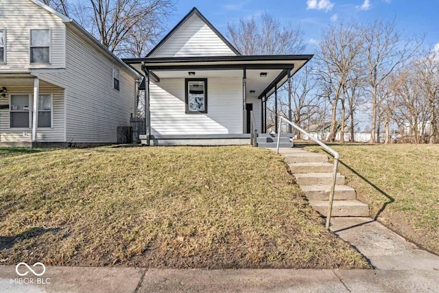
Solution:
M40 8L43 8L45 10L47 10L48 12L51 12L52 14L55 14L56 16L58 16L60 19L62 19L63 23L72 25L76 30L78 30L79 32L81 32L84 36L86 36L86 38L88 38L88 40L91 40L95 45L97 45L97 47L99 47L99 49L102 49L104 51L104 54L106 54L108 57L110 57L110 59L115 60L116 62L118 62L122 67L125 67L126 69L128 69L128 71L130 71L130 73L132 75L135 75L137 78L139 77L139 73L137 73L137 71L135 71L134 69L132 69L131 67L129 67L128 65L126 65L125 62L123 62L121 59L119 59L117 56L115 56L115 54L112 54L107 47L105 47L104 45L102 45L101 43L99 43L98 40L96 40L96 38L94 36L92 36L89 32L87 32L84 27L82 27L79 23L77 23L76 21L74 21L73 19L71 19L69 16L65 16L64 14L54 10L53 8L51 8L50 6L46 5L45 3L38 1L38 0L29 0L32 3L40 6Z

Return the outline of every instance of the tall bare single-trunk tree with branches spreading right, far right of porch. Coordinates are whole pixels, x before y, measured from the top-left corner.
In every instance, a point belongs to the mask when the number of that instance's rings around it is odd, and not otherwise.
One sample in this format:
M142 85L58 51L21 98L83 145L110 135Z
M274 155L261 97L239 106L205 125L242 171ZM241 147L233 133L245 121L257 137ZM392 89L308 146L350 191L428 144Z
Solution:
M420 40L404 40L403 34L396 30L395 21L384 22L382 19L366 25L363 29L368 69L368 91L371 95L372 125L370 143L375 143L377 135L377 118L381 102L379 89L392 72L403 62L414 56L423 43Z

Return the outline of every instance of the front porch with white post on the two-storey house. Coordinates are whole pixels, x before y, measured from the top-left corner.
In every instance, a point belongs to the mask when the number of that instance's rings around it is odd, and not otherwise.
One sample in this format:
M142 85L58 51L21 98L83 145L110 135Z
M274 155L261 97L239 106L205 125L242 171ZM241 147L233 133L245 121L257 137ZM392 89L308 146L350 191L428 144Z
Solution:
M64 108L61 87L29 71L0 73L0 145L64 143Z

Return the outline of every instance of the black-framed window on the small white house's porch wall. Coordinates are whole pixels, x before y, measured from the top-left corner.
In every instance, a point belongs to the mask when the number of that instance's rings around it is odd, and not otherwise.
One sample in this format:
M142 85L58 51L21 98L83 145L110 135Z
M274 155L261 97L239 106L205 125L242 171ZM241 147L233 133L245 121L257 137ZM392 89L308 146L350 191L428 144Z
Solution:
M207 79L186 79L186 113L207 113Z

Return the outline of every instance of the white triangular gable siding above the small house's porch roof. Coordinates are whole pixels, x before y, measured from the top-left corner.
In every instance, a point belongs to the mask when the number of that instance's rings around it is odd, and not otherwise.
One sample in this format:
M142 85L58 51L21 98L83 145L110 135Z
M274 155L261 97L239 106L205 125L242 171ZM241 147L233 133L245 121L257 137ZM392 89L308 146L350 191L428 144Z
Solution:
M236 56L200 17L193 14L150 57Z

